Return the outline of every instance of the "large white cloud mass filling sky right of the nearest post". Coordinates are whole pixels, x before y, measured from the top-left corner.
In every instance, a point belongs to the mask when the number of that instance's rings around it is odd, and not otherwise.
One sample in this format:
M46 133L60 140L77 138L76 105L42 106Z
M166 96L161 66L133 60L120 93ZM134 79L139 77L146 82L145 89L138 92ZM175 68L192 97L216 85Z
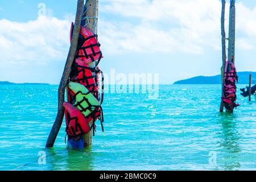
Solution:
M221 2L218 0L109 0L100 10L117 20L100 19L100 38L106 52L185 52L220 50ZM228 27L229 3L226 3ZM121 17L121 18L120 18ZM253 49L256 8L237 3L237 48ZM127 24L127 18L133 22ZM118 20L119 19L119 20ZM135 23L134 23L135 22ZM228 30L226 30L228 35Z

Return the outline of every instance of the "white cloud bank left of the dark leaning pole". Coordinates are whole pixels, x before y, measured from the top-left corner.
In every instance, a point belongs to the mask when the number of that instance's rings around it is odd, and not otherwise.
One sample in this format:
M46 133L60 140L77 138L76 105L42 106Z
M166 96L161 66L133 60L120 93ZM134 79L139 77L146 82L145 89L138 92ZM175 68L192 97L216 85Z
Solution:
M69 20L40 16L26 23L2 19L0 24L0 61L47 64L67 56Z

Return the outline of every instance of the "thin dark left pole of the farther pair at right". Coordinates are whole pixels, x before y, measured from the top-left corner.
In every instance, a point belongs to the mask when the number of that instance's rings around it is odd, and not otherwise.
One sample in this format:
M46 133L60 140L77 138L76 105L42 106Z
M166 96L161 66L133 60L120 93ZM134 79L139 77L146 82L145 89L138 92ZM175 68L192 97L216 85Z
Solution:
M221 44L222 44L222 66L221 66L221 95L224 97L223 84L224 84L224 69L226 63L226 32L225 32L225 5L226 1L222 0L222 10L221 10ZM222 113L224 109L224 104L221 100L220 112Z

